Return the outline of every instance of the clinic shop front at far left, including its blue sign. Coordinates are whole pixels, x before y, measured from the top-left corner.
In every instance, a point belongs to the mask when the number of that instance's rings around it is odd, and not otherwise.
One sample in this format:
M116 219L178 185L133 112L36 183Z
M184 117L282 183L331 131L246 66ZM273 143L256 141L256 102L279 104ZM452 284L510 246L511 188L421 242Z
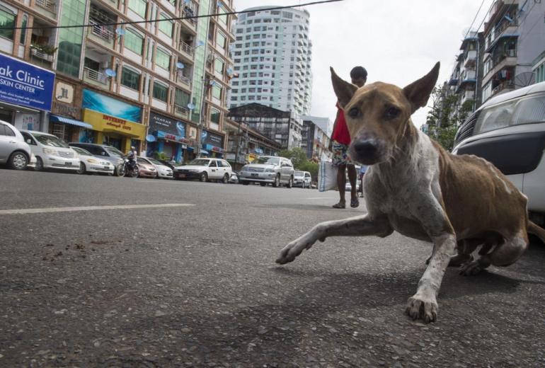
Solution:
M0 54L0 120L20 130L45 130L55 74Z

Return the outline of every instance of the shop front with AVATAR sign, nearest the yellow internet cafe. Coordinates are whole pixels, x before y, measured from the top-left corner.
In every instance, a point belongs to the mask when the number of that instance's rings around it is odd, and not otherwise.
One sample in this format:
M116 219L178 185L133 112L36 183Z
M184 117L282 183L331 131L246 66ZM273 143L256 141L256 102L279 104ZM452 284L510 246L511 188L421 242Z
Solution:
M185 122L151 111L147 139L147 156L164 156L176 162L188 161L188 151L193 150L185 137Z

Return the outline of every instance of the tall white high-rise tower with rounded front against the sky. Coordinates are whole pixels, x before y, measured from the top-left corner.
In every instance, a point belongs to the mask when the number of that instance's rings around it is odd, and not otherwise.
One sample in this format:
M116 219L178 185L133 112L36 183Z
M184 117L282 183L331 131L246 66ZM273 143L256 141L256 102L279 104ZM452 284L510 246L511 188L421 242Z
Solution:
M247 9L234 26L229 106L260 103L307 115L312 93L309 12Z

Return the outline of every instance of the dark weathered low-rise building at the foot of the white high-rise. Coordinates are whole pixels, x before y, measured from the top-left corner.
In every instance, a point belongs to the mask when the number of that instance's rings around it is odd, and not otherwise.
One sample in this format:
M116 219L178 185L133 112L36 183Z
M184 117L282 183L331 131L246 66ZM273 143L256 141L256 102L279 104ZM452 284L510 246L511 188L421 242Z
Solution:
M299 115L290 111L250 103L231 108L229 118L246 124L268 139L277 142L281 149L301 146L303 122Z

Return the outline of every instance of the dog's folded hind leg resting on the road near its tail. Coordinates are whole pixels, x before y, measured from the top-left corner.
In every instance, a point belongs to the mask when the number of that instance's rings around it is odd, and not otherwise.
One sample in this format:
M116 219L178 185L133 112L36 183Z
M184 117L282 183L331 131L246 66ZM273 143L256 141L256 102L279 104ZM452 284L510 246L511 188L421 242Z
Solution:
M460 274L466 276L477 275L489 265L498 267L512 265L520 258L524 251L526 251L528 243L528 236L525 230L519 231L516 236L513 236L510 239L506 239L505 241L502 239L495 244L487 241L485 245L483 245L483 248L481 248L481 251L479 251L481 257L462 266ZM491 248L493 248L493 251L488 253Z

